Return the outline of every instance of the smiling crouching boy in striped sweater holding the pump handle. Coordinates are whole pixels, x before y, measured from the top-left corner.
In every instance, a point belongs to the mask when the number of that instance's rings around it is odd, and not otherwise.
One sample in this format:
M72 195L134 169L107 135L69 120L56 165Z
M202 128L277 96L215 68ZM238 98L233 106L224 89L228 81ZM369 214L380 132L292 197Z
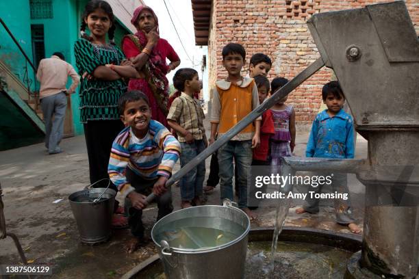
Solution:
M151 191L157 196L157 220L173 211L170 188L164 185L179 159L177 139L160 122L151 120L149 100L140 91L128 91L118 101L125 129L112 144L107 172L125 197L125 212L134 239L127 251L134 252L144 239L142 209Z

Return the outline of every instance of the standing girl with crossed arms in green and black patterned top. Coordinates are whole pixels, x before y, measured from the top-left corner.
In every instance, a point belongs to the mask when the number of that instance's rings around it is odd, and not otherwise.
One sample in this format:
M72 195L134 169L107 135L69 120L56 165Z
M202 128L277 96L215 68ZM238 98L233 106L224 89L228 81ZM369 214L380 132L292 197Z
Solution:
M84 32L86 27L90 30L89 36ZM90 183L109 178L107 164L112 142L124 129L117 105L119 97L127 90L123 78L138 77L134 66L115 46L114 30L114 14L109 3L89 1L81 23L82 38L75 42L74 52L79 75L83 77L79 109L88 150ZM95 185L106 186L107 181Z

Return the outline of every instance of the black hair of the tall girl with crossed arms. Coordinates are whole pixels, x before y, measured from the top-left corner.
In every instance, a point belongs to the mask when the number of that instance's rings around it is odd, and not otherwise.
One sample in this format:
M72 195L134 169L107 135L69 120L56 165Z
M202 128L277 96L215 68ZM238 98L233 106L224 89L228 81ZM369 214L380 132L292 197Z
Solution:
M107 36L110 40L110 43L115 44L114 34L115 34L116 26L115 26L114 12L112 11L112 7L110 6L110 4L107 3L106 1L103 1L103 0L90 0L86 4L86 7L84 8L83 16L81 16L81 26L80 26L81 38L84 38L86 40L92 40L92 38L90 36L88 36L85 32L87 24L84 21L84 19L87 18L89 16L89 14L91 14L92 12L94 12L97 9L102 9L107 14L107 16L109 16L109 19L110 19L110 22L112 23L112 25L109 28L109 30L107 31Z

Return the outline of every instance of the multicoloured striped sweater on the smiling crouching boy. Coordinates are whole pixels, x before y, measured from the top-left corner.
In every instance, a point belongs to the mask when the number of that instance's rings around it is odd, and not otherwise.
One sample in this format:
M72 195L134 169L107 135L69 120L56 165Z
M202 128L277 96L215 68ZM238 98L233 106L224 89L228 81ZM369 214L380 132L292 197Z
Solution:
M134 135L131 127L119 133L112 144L107 173L120 193L127 196L134 191L125 176L127 167L144 179L170 177L180 151L179 142L168 129L150 120L149 132L142 139Z

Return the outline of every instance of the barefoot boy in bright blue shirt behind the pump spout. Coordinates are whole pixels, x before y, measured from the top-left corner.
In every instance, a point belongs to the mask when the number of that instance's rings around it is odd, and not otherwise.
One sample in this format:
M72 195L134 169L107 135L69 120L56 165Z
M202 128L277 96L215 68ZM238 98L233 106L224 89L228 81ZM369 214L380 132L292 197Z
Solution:
M320 112L312 125L306 157L353 159L353 120L342 109L345 97L338 81L326 83L322 88L323 103L327 109ZM330 175L330 174L326 174ZM331 185L334 191L342 194L348 194L347 174L333 174ZM296 209L297 214L318 213L318 198L312 195L320 194L322 185L309 189L306 203L303 207ZM355 224L352 217L351 202L349 194L347 200L335 199L336 222L348 226L352 233L360 233L361 229Z

